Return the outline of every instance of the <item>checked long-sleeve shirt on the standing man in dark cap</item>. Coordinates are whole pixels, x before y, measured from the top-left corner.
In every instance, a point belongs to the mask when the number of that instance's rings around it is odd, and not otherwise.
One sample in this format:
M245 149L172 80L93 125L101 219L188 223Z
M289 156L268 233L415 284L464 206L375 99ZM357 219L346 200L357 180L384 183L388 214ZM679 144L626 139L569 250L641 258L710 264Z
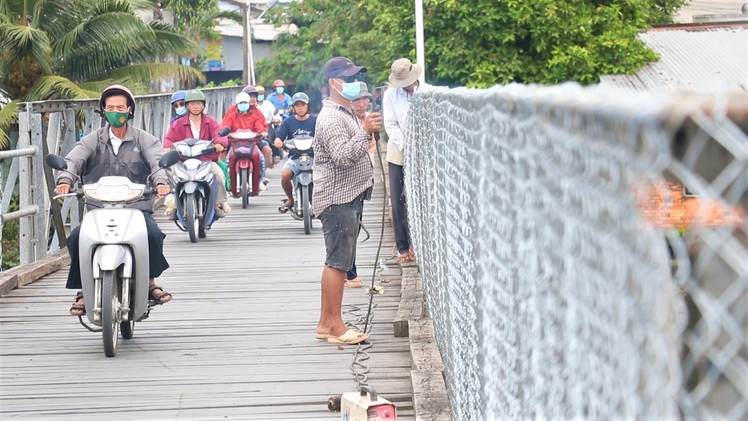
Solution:
M325 100L314 131L314 214L331 205L349 203L361 194L370 199L374 186L374 167L368 154L371 137L361 121L344 107Z

